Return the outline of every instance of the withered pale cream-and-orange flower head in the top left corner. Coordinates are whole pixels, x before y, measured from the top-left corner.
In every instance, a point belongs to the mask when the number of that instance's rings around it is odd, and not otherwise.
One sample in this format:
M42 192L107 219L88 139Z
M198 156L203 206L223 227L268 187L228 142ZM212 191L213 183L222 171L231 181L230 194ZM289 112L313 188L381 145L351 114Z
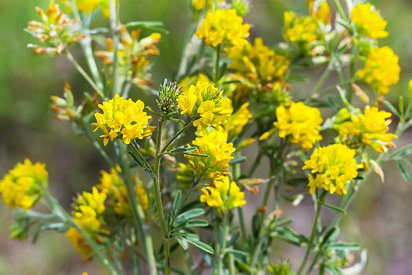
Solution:
M29 44L35 54L60 54L68 45L80 41L85 36L80 33L80 22L71 20L62 12L54 0L43 11L36 7L41 22L30 21L26 31L46 44L46 47Z

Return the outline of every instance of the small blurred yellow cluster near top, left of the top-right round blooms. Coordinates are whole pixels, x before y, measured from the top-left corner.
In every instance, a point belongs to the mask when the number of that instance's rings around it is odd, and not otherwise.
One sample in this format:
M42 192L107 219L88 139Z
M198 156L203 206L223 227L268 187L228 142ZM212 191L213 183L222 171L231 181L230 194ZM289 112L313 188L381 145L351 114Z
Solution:
M294 12L284 12L284 38L288 42L307 44L318 39L317 24L312 17L301 17Z

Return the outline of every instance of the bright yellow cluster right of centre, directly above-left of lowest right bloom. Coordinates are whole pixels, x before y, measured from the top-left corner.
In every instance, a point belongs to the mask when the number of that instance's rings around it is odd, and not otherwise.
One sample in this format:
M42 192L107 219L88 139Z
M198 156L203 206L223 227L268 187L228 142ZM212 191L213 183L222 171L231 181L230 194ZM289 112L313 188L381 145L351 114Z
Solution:
M323 122L321 111L309 107L304 102L292 102L289 109L279 106L276 109L277 122L273 125L279 131L279 137L290 136L290 142L300 144L304 150L312 148L313 144L322 140L319 134Z

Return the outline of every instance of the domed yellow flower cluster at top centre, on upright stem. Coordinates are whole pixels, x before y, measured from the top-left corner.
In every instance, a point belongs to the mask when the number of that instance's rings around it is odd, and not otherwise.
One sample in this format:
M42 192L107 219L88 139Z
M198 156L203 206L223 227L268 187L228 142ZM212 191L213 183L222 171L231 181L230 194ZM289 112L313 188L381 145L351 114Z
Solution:
M249 24L243 24L243 19L236 14L236 10L216 10L207 12L196 36L213 47L223 43L241 47L247 43L250 28Z

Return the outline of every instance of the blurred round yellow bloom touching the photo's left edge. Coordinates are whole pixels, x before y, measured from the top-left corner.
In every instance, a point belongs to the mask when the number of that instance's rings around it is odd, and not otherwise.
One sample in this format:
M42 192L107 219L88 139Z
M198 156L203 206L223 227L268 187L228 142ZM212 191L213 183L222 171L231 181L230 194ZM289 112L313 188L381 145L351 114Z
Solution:
M48 173L46 165L30 159L18 163L0 180L3 203L10 208L29 210L43 195L47 188Z

